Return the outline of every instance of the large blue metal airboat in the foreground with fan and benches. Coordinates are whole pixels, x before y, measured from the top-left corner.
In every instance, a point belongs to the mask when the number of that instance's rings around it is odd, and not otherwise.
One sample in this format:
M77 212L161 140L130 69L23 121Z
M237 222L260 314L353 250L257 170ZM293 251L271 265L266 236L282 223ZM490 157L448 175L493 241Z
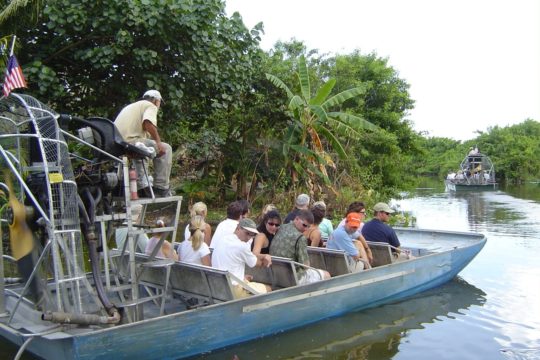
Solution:
M178 359L397 301L454 278L482 234L398 229L413 256L349 273L346 255L309 250L332 278L298 285L291 259L252 269L272 292L235 299L227 271L140 253L139 239L176 239L182 198L142 198L134 161L150 156L104 118L60 115L28 95L0 99L0 336L44 359ZM139 208L139 215L133 210ZM169 207L165 228L147 215ZM125 229L119 241L117 230ZM157 249L157 247L156 247Z

